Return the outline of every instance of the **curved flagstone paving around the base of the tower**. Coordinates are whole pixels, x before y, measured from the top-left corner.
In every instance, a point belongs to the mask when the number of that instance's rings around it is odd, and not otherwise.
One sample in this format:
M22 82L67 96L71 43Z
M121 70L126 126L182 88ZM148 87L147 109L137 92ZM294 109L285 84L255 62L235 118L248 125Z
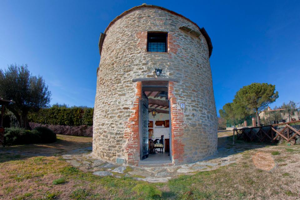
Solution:
M85 172L92 172L98 176L114 176L118 178L125 176L148 182L167 182L181 174L215 170L221 166L237 162L242 157L239 153L245 151L245 147L232 146L230 141L227 140L224 142L218 145L215 155L203 161L171 167L147 168L111 163L93 157L91 148L77 149L75 154L66 154L62 157L74 167L78 167Z

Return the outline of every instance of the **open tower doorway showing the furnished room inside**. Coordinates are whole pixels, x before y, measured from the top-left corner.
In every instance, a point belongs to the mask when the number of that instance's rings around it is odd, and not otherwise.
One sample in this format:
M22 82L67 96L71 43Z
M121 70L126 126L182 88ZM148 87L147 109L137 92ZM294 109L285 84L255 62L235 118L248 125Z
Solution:
M141 164L170 163L171 123L168 87L143 86Z

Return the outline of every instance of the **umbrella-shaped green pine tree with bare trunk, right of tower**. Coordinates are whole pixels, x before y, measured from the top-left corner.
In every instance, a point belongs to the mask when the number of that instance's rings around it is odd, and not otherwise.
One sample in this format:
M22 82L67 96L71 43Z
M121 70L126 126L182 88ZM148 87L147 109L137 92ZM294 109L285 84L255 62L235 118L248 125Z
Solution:
M267 83L252 83L237 91L233 103L245 108L248 113L255 113L257 125L260 126L258 112L266 108L278 98L275 85Z

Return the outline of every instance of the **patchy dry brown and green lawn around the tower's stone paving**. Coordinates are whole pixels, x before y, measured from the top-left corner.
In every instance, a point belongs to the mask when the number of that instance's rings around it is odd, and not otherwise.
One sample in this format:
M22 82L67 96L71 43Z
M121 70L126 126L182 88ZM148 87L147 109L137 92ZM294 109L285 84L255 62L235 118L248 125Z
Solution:
M225 134L225 133L224 133ZM229 134L228 134L229 135ZM160 195L140 196L133 178L99 177L70 166L59 155L91 146L91 138L58 136L57 143L3 148L0 152L0 199L299 199L300 145L270 146L220 138L230 148L248 149L236 163L216 170L182 175L168 183L149 183ZM74 145L78 145L75 146ZM30 147L30 148L29 148ZM256 149L255 149L256 148ZM13 151L12 151L13 150ZM273 156L272 151L281 154ZM13 152L13 153L12 153ZM27 155L21 155L26 152ZM35 152L48 156L35 156ZM242 156L240 156L242 155ZM275 167L272 168L275 159ZM266 164L267 163L267 164ZM264 166L265 165L265 166ZM261 166L264 166L263 168ZM272 168L272 170L269 170ZM128 167L125 172L132 171ZM64 178L65 183L53 184ZM147 186L148 187L148 186ZM145 188L144 188L145 189ZM143 194L144 189L142 188ZM146 188L147 189L147 188Z

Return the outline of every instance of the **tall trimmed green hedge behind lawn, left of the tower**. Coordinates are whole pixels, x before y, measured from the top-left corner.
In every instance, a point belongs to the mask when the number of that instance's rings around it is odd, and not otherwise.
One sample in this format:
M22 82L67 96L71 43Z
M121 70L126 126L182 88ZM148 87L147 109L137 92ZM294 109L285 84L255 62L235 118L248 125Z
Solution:
M92 126L93 114L94 108L53 105L51 108L40 109L37 113L28 113L28 120L49 125Z

